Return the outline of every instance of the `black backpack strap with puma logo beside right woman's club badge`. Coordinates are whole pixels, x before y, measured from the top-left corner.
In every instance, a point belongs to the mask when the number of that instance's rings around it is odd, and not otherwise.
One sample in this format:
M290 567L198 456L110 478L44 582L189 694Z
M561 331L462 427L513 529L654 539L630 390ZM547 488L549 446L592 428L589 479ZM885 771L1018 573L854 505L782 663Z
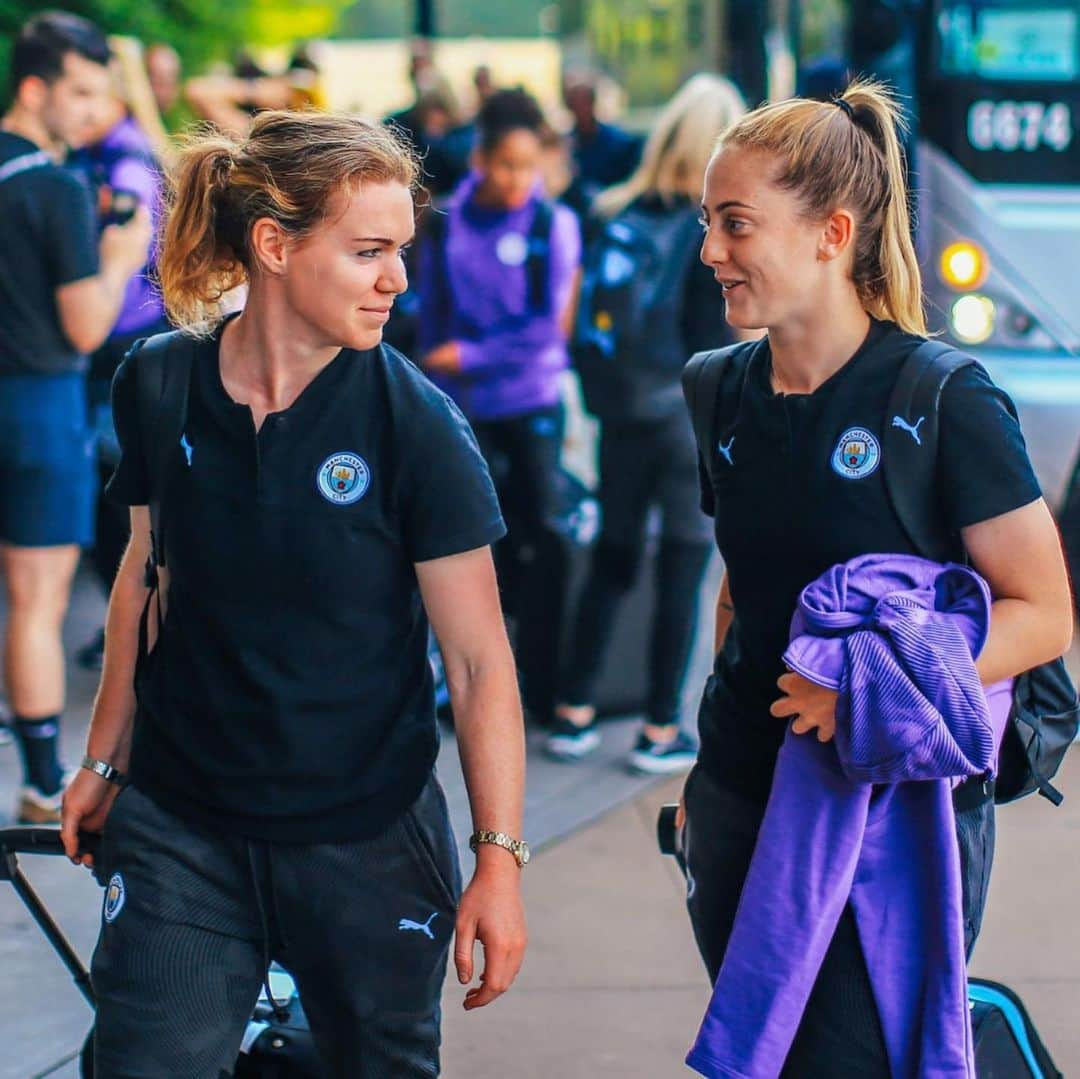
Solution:
M904 361L881 435L885 484L908 539L923 557L962 561L959 537L937 505L937 443L942 391L971 356L941 341L923 341Z

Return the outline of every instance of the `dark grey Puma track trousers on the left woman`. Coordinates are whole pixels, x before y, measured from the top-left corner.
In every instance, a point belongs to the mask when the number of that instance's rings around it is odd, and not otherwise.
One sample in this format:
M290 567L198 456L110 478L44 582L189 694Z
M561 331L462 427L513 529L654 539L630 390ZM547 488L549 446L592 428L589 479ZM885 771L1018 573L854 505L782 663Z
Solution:
M434 775L384 833L345 844L213 833L129 787L102 864L97 1079L230 1075L267 957L295 979L327 1076L438 1075L461 877Z

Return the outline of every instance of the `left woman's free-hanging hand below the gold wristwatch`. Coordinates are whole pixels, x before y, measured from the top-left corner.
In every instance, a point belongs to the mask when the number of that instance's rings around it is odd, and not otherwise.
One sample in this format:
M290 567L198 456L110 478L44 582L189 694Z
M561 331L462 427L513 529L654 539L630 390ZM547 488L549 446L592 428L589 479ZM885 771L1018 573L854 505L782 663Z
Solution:
M496 861L492 855L498 855ZM454 966L458 981L473 979L473 949L484 946L481 984L465 994L465 1011L483 1008L513 984L525 959L528 932L522 903L522 871L513 855L501 849L483 850L476 873L458 905Z

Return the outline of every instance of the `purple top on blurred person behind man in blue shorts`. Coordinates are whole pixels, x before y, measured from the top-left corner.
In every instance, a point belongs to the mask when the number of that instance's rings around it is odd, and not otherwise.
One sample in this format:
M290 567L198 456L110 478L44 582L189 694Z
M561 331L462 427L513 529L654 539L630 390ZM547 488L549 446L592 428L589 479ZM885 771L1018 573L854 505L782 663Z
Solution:
M131 117L121 120L99 143L72 154L71 164L95 186L107 184L113 191L131 191L137 195L139 203L150 211L157 237L162 210L161 171L150 140ZM156 256L157 240L150 249L148 265L127 282L120 315L109 336L131 336L154 326L164 318L161 295L148 275Z

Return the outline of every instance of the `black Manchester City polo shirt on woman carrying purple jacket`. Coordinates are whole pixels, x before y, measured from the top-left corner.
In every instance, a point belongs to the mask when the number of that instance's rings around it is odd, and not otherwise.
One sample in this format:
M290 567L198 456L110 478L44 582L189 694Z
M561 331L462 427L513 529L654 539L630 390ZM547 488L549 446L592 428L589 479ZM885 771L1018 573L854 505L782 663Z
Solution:
M701 760L756 800L768 797L786 729L769 705L799 593L856 555L918 553L889 500L881 435L900 369L920 343L875 322L818 390L786 395L772 392L768 339L735 351L732 362L748 365L744 388L718 403L712 482L702 469L702 509L715 517L735 618L701 711ZM1039 498L1012 402L982 367L946 383L939 437L939 505L951 529Z

